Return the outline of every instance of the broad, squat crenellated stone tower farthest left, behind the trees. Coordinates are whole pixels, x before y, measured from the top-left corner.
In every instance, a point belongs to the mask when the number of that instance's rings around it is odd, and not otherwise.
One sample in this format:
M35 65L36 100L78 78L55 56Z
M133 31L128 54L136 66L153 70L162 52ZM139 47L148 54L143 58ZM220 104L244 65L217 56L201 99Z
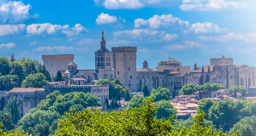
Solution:
M74 60L74 54L42 55L43 65L51 75L56 75L58 70L67 70L67 64Z

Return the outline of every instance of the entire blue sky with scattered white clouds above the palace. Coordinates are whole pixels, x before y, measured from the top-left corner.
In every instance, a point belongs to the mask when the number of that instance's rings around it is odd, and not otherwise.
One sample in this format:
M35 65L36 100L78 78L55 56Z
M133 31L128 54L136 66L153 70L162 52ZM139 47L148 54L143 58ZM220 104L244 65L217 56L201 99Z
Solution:
M168 56L183 66L233 57L256 66L255 0L0 0L0 56L74 54L94 69L105 31L109 50L137 46L137 68Z

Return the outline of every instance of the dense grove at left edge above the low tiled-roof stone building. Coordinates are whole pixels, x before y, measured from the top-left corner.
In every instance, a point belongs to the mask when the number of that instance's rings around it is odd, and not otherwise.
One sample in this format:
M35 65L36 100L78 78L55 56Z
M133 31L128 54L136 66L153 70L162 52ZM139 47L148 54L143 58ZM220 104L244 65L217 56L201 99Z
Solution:
M34 75L38 73L41 74ZM28 85L27 81L31 81L32 85ZM13 54L10 59L0 57L0 90L11 90L13 87L21 86L38 87L38 84L47 84L48 81L51 81L51 75L39 61L29 58L16 60ZM36 85L33 85L34 82L37 82Z

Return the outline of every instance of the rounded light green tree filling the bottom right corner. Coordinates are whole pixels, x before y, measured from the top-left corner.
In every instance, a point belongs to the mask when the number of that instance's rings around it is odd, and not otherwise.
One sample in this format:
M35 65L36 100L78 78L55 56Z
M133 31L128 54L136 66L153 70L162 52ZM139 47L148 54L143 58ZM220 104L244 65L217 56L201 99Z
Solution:
M256 116L247 116L242 118L230 129L229 134L239 132L238 136L255 136L256 135Z

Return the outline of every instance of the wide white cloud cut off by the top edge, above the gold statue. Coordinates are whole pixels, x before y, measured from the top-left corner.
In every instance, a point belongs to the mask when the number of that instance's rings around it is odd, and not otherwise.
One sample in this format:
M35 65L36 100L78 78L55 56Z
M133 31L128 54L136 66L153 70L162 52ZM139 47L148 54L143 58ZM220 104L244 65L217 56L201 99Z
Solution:
M106 9L141 9L143 7L170 7L179 0L94 0Z

